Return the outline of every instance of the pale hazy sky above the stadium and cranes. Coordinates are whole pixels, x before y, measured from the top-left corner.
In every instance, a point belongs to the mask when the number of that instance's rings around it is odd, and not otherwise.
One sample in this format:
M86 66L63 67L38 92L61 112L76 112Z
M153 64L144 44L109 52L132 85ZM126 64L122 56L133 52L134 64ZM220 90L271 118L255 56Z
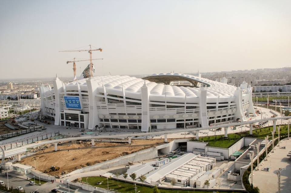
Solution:
M72 76L92 44L95 76L291 65L291 1L0 1L0 79ZM87 62L77 63L80 67Z

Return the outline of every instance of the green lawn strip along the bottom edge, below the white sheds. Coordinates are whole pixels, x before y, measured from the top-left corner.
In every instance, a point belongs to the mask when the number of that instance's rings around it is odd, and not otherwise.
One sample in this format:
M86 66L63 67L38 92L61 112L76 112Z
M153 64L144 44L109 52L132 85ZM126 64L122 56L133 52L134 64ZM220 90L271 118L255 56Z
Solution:
M93 176L93 177L88 177L87 179L88 184L92 186L96 186L99 188L104 188L107 189L107 179L105 177L99 177L99 176ZM82 178L82 182L86 183L86 178ZM97 182L102 182L102 184L98 185L96 184ZM122 182L122 181L117 181L115 179L108 179L108 185L109 189L114 189L115 191L121 192L121 193L135 193L135 185L133 183L129 182ZM142 185L136 185L137 192L140 191L140 193L152 193L153 188L147 187L147 186L142 186ZM160 189L160 193L189 193L189 192L198 192L198 193L206 193L206 192L213 192L213 191L183 191L183 190L165 190L165 189ZM222 193L222 192L221 192Z

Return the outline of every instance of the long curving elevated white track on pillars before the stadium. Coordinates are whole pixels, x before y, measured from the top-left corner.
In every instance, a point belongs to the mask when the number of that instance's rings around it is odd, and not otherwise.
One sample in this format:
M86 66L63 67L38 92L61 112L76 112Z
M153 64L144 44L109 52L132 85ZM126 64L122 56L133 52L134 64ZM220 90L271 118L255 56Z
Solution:
M62 138L62 139L56 139L56 140L48 140L48 141L40 141L38 143L31 143L28 145L23 145L21 147L16 147L13 149L5 150L5 157L17 155L24 153L27 148L36 148L45 144L51 144L51 143L58 143L62 141L72 141L72 140L91 140L91 139L109 139L109 138L124 138L124 137L134 137L134 136L160 136L164 134L170 134L170 133L180 133L180 132L192 132L192 131L199 131L199 130L208 130L208 129L216 129L220 127L231 127L231 126L240 126L240 125L247 125L247 124L254 124L258 122L263 121L274 121L274 120L286 120L291 119L291 116L287 117L272 117L267 119L261 119L261 120L252 120L252 121L246 121L241 123L230 123L225 125L218 125L213 127L204 127L204 128L191 128L191 129L177 129L177 130L168 130L168 131L157 131L157 132L150 132L150 133L125 133L125 134L119 134L119 135L103 135L103 136L84 136L84 137L68 137L68 138ZM0 156L2 153L0 153Z

